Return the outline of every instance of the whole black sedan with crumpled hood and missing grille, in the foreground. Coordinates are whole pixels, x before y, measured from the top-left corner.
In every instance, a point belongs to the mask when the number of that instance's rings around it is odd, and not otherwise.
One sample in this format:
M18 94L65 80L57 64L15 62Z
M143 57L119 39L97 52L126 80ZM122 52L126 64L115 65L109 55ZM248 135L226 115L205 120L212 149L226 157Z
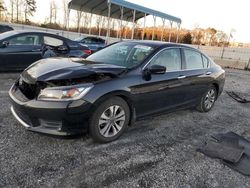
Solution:
M147 41L113 44L87 59L49 58L28 67L9 91L28 130L117 139L137 119L196 107L208 112L225 71L191 47Z

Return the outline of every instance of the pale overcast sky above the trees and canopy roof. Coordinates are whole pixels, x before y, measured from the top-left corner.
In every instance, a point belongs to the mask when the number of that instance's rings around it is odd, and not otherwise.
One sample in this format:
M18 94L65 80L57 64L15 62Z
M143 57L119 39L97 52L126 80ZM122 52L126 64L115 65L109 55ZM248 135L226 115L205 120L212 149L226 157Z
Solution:
M55 0L58 6L62 0ZM159 10L183 21L182 27L192 29L214 27L230 33L233 28L234 40L250 43L250 1L249 0L128 0ZM37 0L36 20L49 15L50 0ZM158 20L160 24L160 19Z

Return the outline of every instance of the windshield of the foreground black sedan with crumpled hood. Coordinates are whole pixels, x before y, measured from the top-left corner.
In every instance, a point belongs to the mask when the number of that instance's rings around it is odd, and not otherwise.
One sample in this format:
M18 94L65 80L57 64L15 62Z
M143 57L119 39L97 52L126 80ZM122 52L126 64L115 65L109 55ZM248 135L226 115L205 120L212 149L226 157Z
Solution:
M144 44L121 42L94 53L87 60L132 68L141 64L153 50Z

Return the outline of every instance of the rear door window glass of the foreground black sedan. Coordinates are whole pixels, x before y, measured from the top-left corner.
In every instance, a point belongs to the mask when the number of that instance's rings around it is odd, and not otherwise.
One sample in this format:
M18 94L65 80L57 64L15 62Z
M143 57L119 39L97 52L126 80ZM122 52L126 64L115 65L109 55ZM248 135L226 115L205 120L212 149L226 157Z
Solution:
M184 55L186 59L186 69L204 68L201 53L194 50L184 49Z

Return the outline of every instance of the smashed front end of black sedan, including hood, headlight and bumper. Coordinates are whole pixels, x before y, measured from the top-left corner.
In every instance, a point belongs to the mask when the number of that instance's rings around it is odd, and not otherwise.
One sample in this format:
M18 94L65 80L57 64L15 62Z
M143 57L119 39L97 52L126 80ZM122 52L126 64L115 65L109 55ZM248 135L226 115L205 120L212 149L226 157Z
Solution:
M100 82L119 77L123 67L44 59L28 67L9 91L14 117L28 130L54 135L79 134L92 104L83 96Z

